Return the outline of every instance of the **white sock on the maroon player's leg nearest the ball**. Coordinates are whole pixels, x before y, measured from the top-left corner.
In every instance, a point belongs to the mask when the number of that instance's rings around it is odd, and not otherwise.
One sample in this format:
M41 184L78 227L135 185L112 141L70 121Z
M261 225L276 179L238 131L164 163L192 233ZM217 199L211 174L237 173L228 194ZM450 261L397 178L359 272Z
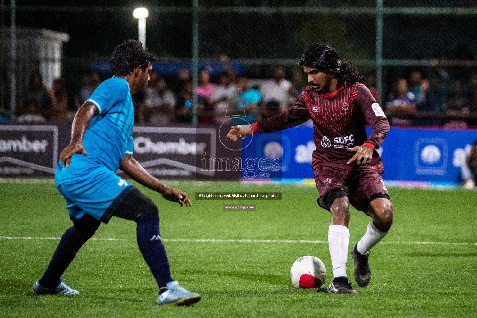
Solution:
M348 261L349 245L350 230L346 226L332 224L328 229L328 246L330 246L333 277L348 277L346 262Z

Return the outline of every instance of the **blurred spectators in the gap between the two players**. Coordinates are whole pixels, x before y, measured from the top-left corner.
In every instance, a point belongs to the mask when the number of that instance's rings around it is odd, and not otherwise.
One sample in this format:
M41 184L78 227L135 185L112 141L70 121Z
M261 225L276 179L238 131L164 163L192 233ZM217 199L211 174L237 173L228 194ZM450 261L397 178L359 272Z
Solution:
M220 62L226 71L218 75L217 83L212 81L211 70L198 71L198 123L224 123L228 109L243 110L249 123L269 118L288 110L306 86L301 74L291 82L285 79L285 70L280 66L274 68L269 80L249 80L234 73L227 55L221 55ZM192 122L191 73L185 69L178 72L171 85L176 87L176 93L168 86L159 72L151 73L145 97L137 107L139 123L165 126Z

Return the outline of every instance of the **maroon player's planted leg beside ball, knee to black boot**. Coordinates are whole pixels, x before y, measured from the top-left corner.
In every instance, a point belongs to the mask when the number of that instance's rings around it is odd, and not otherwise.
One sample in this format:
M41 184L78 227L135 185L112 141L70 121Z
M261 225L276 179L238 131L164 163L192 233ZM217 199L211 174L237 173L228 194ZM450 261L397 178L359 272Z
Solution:
M346 275L348 261L348 247L350 244L350 202L345 191L338 189L330 191L324 197L324 203L330 206L332 222L328 229L328 245L330 247L333 265L333 281L327 292L336 294L356 294Z

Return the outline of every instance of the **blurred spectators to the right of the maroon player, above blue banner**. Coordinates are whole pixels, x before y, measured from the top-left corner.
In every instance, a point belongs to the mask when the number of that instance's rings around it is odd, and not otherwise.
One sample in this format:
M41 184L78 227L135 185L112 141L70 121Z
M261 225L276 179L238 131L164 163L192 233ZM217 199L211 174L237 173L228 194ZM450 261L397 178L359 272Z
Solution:
M390 123L398 126L475 126L477 74L473 74L468 81L451 80L438 60L433 60L427 74L411 70L406 78L394 82L385 102L385 112Z

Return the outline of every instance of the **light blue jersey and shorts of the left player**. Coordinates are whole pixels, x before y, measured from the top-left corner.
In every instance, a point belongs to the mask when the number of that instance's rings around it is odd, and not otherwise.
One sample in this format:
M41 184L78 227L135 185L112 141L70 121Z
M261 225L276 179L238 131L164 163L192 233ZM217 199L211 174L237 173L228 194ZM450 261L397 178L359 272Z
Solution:
M124 154L133 154L133 101L128 83L113 77L102 82L86 102L98 108L83 137L88 154L73 154L66 168L59 162L55 184L71 216L81 218L88 213L107 222L111 215L104 214L114 199L129 193L123 190L130 184L115 172Z

